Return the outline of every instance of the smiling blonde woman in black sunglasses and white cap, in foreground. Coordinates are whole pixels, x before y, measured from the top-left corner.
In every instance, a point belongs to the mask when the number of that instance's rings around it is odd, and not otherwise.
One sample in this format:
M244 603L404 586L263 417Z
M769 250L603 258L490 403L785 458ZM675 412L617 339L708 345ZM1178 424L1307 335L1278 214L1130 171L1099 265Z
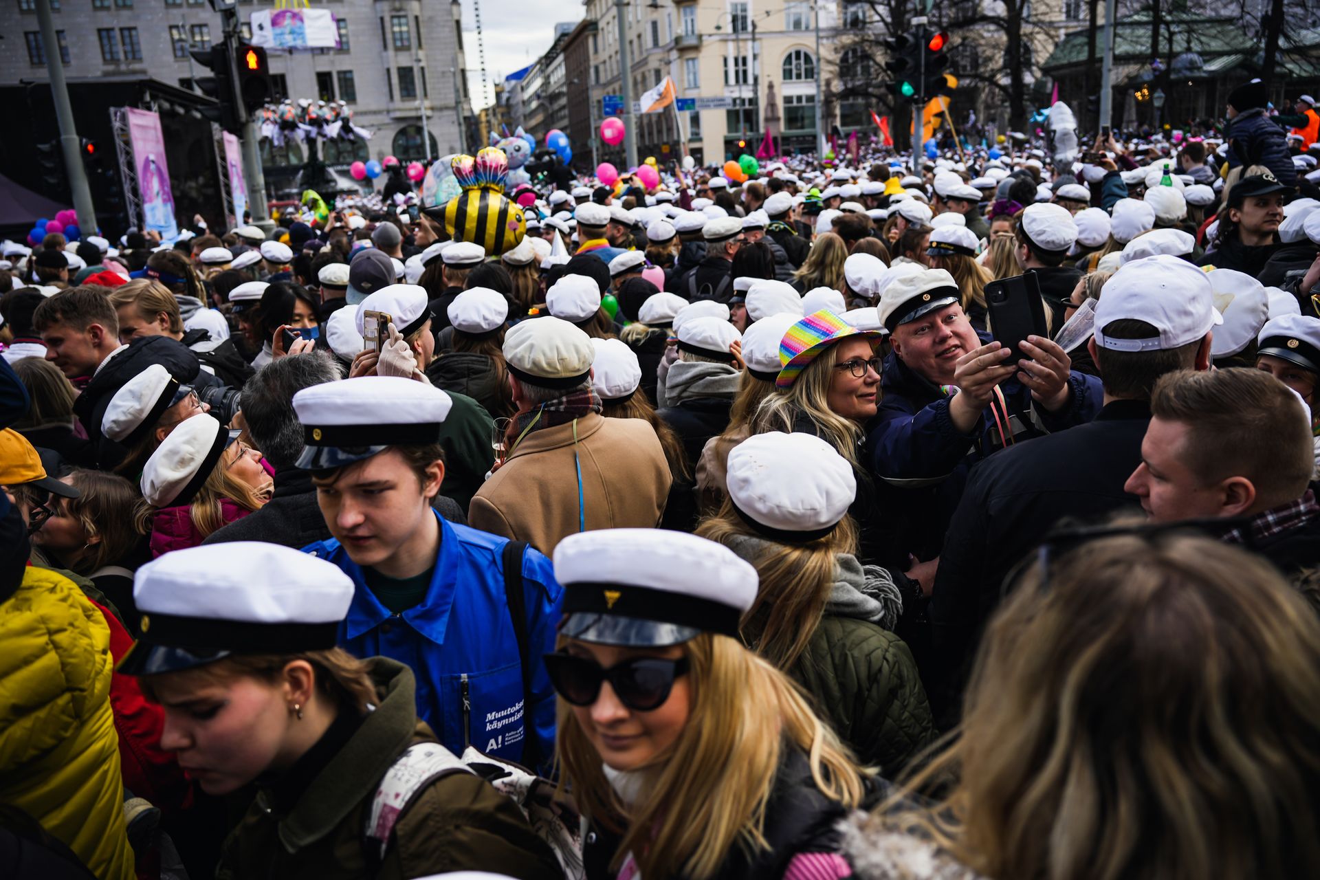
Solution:
M851 876L836 823L870 780L739 641L756 571L718 544L605 529L554 550L561 784L590 880Z

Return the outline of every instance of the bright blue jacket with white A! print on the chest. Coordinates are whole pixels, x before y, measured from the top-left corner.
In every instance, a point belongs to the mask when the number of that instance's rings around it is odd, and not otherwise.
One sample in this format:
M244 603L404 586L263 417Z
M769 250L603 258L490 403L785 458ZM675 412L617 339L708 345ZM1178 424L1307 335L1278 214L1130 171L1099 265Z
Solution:
M523 672L513 621L504 600L502 551L487 532L447 522L438 513L440 554L420 606L392 615L367 588L362 569L335 540L304 548L339 566L355 590L339 624L339 646L355 657L389 657L417 678L417 715L449 751L477 749L523 760ZM554 650L564 590L550 561L532 548L523 557L532 676L532 719L541 761L554 749L554 690L541 654Z

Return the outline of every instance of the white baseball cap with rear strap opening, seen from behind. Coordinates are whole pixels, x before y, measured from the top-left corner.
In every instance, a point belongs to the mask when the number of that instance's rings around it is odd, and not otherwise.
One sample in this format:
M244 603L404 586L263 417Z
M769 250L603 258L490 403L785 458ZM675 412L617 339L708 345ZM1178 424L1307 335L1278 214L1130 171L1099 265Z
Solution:
M1144 321L1158 336L1113 339L1104 329L1115 321ZM1197 267L1162 253L1125 263L1096 306L1096 344L1110 351L1170 351L1204 339L1224 318L1214 310L1210 280Z

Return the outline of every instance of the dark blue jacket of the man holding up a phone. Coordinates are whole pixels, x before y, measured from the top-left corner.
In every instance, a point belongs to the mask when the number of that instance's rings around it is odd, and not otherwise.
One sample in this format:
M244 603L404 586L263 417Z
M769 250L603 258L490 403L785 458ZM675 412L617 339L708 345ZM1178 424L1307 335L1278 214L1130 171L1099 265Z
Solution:
M981 344L991 342L990 334L977 335ZM1074 372L1069 384L1071 401L1059 413L1032 406L1031 391L1015 377L999 384L1018 441L1096 417L1105 397L1100 380ZM884 359L880 389L880 408L867 426L862 460L878 480L882 507L904 509L908 551L929 559L942 546L972 466L1001 449L999 431L987 409L970 434L960 433L949 416L950 397L892 352Z

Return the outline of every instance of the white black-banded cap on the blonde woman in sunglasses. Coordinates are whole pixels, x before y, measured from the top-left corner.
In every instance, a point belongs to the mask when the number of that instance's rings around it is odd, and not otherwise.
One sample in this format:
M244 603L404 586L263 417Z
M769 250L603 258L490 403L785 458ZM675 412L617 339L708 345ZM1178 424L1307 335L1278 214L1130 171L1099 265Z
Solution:
M560 635L663 648L704 632L738 639L756 570L723 545L663 529L599 529L554 548L564 586Z

